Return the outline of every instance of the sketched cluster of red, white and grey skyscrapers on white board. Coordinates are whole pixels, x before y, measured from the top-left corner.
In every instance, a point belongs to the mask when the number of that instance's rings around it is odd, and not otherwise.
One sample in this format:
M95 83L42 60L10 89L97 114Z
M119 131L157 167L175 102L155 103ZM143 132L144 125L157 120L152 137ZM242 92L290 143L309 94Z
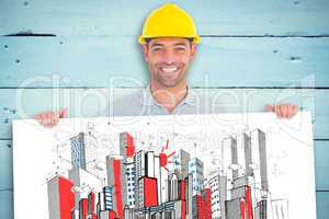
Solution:
M204 161L179 149L145 151L129 132L120 134L120 154L107 154L106 180L87 171L84 134L70 139L69 178L48 182L52 218L288 218L288 200L271 199L265 134L256 129L218 143L226 161L205 175ZM243 151L241 163L238 150ZM76 187L76 189L75 189ZM73 192L71 192L73 191ZM64 199L70 201L63 207Z

